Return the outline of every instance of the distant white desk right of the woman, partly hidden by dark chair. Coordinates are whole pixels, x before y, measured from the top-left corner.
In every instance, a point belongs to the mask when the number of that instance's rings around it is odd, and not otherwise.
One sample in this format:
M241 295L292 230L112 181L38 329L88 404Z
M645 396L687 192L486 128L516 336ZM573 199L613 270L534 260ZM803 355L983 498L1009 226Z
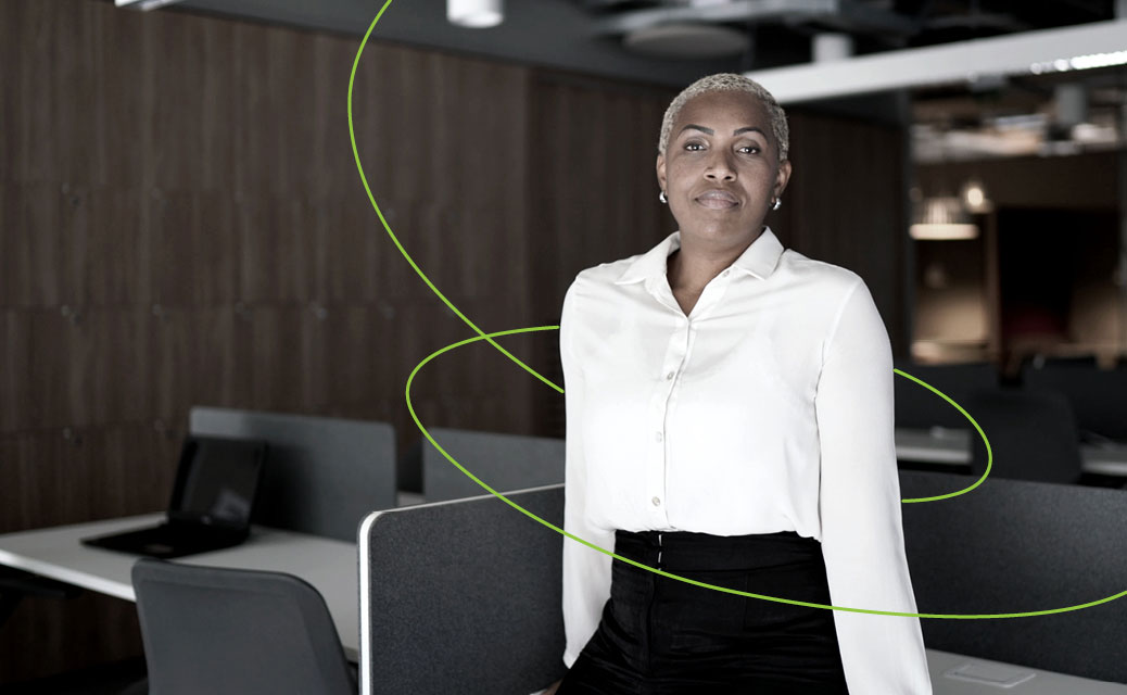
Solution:
M978 436L971 429L896 428L896 458L921 463L948 463L967 465L970 463L970 437ZM987 433L988 436L988 433ZM1119 475L1127 478L1127 446L1095 446L1082 444L1080 454L1085 473Z

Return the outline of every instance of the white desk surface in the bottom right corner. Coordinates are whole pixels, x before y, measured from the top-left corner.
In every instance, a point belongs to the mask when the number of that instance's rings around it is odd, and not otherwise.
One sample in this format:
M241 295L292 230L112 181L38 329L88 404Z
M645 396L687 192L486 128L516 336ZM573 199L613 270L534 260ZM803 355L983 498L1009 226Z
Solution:
M928 670L933 695L1127 695L1127 685L935 649L928 650Z

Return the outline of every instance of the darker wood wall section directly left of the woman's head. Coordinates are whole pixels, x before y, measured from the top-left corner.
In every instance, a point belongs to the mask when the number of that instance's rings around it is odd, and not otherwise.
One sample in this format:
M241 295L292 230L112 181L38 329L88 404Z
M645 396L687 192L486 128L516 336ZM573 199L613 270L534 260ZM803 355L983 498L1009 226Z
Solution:
M584 268L642 253L676 229L658 203L655 173L666 89L565 73L539 73L532 93L530 259L535 321L559 323L564 293ZM559 335L543 336L538 364L564 386ZM538 389L535 433L562 437L564 398Z

